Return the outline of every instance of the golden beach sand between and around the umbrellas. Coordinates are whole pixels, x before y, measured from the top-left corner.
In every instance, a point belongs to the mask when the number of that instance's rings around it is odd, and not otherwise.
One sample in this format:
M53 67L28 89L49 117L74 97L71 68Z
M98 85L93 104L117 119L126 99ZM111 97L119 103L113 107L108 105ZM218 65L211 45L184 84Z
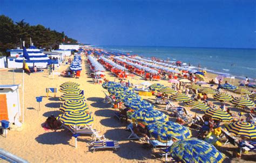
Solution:
M83 61L83 65L85 61ZM62 72L68 68L68 65L59 67L58 72ZM119 122L114 117L114 109L110 108L110 104L103 103L105 97L103 87L100 84L93 84L92 78L86 74L89 73L89 67L83 66L80 79L55 77L48 75L48 70L42 73L33 73L30 76L25 74L25 123L21 131L11 130L6 138L0 136L0 147L17 156L28 160L29 162L160 162L164 158L155 158L152 155L152 150L143 145L145 142L127 140L130 132L125 130L126 123ZM22 83L22 73L14 73L16 80L12 80L13 73L11 70L1 70L0 84L15 84ZM106 72L106 78L114 81L115 77L111 72ZM207 74L206 81L214 79L215 74ZM5 80L2 80L5 79ZM8 80L9 79L9 80ZM130 79L130 78L129 78ZM228 79L229 80L229 79ZM118 140L120 148L118 151L102 150L90 152L86 142L91 140L90 136L78 137L78 147L75 148L75 138L66 130L45 131L41 126L46 118L51 114L57 116L61 114L59 107L62 101L58 98L46 97L45 88L55 87L59 89L59 85L63 82L73 81L80 84L79 88L84 90L84 95L87 104L92 112L94 118L93 128L104 134L107 139ZM117 81L117 80L116 80ZM136 76L135 79L130 79L130 82L137 84L144 80ZM163 83L170 86L167 81L150 81L151 83ZM216 87L216 86L214 86ZM20 99L22 102L22 88L19 88ZM230 92L230 94L233 94ZM57 97L62 95L58 92ZM235 95L235 94L234 94ZM38 111L37 96L43 96L41 102L41 110ZM52 96L52 94L50 95ZM235 95L239 96L239 95ZM142 96L145 100L153 101L154 96ZM210 96L211 97L211 96ZM215 101L216 104L219 104ZM22 103L21 103L22 107ZM156 109L164 111L163 106L157 106ZM238 114L240 109L228 106L231 111ZM194 110L187 108L190 114L194 115ZM165 111L164 111L165 112ZM198 112L198 111L197 111ZM198 112L202 114L203 112ZM22 119L22 118L21 118ZM224 152L232 162L253 162L256 155L254 153L247 153L242 155L242 159L233 157L232 150L234 146L226 145L218 147L221 152ZM1 160L0 160L1 161ZM225 160L229 162L229 160Z

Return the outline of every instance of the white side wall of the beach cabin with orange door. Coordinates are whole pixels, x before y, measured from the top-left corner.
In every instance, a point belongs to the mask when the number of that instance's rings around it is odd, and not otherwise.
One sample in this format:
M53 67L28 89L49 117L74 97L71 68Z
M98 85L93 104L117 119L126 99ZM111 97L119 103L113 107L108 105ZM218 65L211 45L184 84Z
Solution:
M21 116L21 107L19 105L19 91L18 89L12 91L9 88L0 89L0 94L6 94L6 103L8 110L9 122L14 123L14 117Z

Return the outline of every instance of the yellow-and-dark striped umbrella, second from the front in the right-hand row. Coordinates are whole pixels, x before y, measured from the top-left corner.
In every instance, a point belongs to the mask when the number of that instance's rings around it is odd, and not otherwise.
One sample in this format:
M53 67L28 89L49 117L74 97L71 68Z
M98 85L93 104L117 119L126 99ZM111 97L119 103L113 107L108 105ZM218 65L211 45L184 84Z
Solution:
M223 122L233 121L233 117L223 109L208 109L206 110L205 115L218 121L223 121Z

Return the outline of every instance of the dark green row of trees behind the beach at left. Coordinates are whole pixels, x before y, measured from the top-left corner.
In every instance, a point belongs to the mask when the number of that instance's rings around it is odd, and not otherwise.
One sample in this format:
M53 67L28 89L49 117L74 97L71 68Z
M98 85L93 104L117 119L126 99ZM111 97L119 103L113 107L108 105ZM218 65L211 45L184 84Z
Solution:
M33 45L39 48L58 48L63 42L76 43L77 40L65 36L43 25L29 25L24 19L14 22L11 18L0 15L0 55L7 55L6 49L17 48L21 46L21 41L25 41L25 46L30 44L32 38Z

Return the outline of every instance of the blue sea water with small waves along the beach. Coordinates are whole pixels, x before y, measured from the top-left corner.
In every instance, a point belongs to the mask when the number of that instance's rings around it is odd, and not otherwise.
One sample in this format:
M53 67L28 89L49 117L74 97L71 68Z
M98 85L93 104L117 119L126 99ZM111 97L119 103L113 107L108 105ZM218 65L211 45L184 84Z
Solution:
M256 79L256 49L246 48L201 48L163 46L97 46L108 52L156 56L170 61L182 61L194 68L206 69L215 74L226 73L244 79Z

